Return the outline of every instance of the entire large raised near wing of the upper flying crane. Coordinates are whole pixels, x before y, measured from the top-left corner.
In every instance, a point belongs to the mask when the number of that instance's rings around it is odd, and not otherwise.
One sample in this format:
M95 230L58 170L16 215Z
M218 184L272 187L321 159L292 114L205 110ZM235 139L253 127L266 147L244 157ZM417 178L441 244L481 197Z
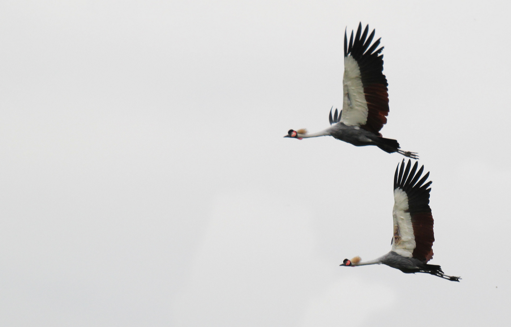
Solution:
M375 30L366 40L369 25L362 32L362 24L358 25L357 34L350 43L344 31L344 76L342 78L344 100L342 104L341 122L355 125L380 135L380 130L387 123L388 89L387 79L383 75L383 46L376 50L380 39L373 45ZM362 35L361 35L362 34Z

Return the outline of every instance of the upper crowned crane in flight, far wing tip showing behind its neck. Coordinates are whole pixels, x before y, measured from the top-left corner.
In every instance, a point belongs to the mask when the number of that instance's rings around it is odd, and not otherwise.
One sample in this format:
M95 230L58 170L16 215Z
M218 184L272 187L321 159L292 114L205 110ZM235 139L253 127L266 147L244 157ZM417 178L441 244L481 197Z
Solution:
M399 152L404 156L417 159L417 153L400 150L398 141L384 138L380 134L387 123L388 93L387 79L383 75L383 46L376 50L380 39L371 44L375 30L367 37L369 25L362 32L362 24L358 25L357 34L350 43L344 31L344 76L342 78L344 100L342 110L335 109L332 117L330 109L330 127L317 133L308 133L306 129L297 131L290 129L284 137L297 139L331 135L341 141L361 147L375 145L385 152ZM369 46L370 45L370 46ZM376 50L376 51L375 51Z

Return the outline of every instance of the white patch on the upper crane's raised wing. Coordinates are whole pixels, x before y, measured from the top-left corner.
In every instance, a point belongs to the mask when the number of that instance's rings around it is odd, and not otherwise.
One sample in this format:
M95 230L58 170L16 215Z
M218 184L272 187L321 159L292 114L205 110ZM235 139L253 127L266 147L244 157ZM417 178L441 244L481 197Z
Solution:
M360 77L357 61L351 56L344 58L344 76L342 78L344 100L342 103L341 123L360 126L367 122L367 102L364 86Z

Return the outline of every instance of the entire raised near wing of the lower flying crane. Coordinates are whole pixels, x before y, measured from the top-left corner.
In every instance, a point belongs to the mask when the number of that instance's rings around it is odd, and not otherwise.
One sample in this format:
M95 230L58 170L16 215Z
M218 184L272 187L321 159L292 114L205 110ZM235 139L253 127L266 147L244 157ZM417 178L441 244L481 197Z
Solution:
M405 160L396 168L394 174L394 237L392 251L428 262L433 258L433 216L429 207L429 192L431 181L429 172L421 178L424 166L417 173L417 162L410 171L411 160L404 169ZM398 172L399 169L399 172ZM404 170L404 171L403 171ZM421 178L421 180L419 180Z

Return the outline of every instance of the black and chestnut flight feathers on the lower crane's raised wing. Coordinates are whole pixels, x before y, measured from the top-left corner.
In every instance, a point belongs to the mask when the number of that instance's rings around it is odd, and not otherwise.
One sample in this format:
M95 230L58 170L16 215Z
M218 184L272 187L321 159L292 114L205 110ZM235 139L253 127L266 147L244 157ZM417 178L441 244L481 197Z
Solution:
M415 249L412 257L426 263L433 258L432 247L435 241L433 216L429 207L429 193L431 191L429 185L431 185L431 181L424 184L429 177L429 172L421 178L424 166L417 171L418 164L419 162L415 161L415 165L411 170L411 160L408 160L406 168L404 159L401 162L401 169L398 164L394 174L394 190L399 188L406 192L408 197L408 212L411 216L415 237Z

